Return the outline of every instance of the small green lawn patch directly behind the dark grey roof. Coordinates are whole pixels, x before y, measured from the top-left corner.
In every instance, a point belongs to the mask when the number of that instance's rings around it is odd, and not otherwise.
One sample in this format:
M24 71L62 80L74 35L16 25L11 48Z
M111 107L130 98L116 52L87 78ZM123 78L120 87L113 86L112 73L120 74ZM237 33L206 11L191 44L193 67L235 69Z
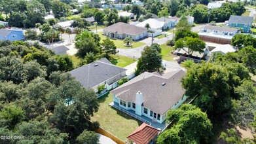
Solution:
M129 58L127 56L111 56L110 60L111 63L113 63L113 65L117 65L119 67L126 67L127 65L130 65L134 62L136 62L137 60Z

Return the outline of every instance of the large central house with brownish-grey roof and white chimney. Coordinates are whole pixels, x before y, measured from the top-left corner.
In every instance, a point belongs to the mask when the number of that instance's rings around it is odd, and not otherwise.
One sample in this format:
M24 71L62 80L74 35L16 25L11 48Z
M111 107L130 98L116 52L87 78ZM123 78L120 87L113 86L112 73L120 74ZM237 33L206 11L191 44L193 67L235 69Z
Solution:
M165 73L144 72L134 79L111 90L113 103L134 115L144 116L162 124L168 111L176 109L187 99L181 87L182 70L169 70Z

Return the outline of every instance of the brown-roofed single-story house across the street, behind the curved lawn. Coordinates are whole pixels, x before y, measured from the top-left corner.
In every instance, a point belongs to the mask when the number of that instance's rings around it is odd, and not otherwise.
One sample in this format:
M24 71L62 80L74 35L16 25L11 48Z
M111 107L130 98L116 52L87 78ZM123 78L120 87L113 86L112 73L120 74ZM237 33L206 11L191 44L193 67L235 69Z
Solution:
M132 38L134 41L147 37L147 29L118 22L103 29L103 34L114 39Z

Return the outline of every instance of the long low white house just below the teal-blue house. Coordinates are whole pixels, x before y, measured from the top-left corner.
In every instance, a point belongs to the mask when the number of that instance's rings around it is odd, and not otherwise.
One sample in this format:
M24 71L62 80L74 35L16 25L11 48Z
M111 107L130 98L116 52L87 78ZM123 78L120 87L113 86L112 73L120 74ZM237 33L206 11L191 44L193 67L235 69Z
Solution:
M239 33L239 29L231 27L220 27L220 26L205 26L201 31L202 33L214 33L215 35L229 35L234 36Z

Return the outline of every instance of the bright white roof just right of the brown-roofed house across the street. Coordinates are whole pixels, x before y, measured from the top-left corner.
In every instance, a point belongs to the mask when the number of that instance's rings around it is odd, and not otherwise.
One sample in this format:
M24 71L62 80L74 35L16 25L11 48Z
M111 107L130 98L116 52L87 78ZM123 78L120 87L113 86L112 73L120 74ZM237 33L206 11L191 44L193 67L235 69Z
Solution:
M164 26L164 22L160 22L159 20L156 20L155 18L149 18L147 20L144 20L143 22L136 24L136 26L145 27L146 24L149 24L151 29L160 29Z

